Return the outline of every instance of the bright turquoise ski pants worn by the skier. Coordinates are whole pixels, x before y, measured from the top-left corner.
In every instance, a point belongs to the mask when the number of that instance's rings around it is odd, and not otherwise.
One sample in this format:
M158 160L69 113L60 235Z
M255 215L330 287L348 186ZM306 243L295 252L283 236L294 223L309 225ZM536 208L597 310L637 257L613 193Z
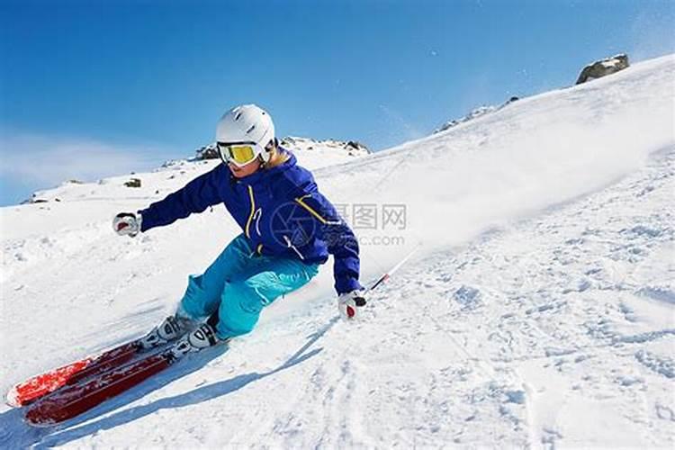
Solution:
M256 326L263 308L307 284L318 273L319 265L257 255L242 234L225 247L206 272L190 275L179 314L206 320L218 312L219 338L243 335Z

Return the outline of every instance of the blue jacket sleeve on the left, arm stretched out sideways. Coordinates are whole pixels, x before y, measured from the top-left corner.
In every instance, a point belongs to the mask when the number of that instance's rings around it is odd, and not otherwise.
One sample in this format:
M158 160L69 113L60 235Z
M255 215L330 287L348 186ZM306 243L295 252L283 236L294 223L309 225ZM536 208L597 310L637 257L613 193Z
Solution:
M170 193L147 209L139 211L141 231L161 227L184 219L193 212L202 212L213 204L222 202L218 184L224 183L221 166L193 179L175 193Z

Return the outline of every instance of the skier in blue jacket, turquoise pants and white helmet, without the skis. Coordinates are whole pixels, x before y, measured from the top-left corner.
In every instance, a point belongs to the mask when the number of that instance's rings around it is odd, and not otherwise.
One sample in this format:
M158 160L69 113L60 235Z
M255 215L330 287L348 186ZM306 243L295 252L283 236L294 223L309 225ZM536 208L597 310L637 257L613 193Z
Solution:
M175 315L150 331L143 346L181 338L173 351L184 355L246 334L263 308L307 284L329 254L338 310L355 317L365 291L354 233L311 173L279 145L269 114L255 104L229 110L218 122L216 147L223 164L112 221L119 235L133 238L222 202L243 231L202 275L189 277Z

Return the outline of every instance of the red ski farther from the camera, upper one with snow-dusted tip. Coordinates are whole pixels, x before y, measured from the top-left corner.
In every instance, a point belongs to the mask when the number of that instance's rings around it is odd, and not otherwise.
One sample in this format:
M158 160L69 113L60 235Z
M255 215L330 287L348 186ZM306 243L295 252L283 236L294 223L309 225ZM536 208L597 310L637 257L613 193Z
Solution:
M113 367L124 365L140 350L139 341L133 340L103 352L101 355L88 356L44 374L35 375L10 389L6 395L6 402L14 407L28 405L63 386L78 383L90 376L103 374Z

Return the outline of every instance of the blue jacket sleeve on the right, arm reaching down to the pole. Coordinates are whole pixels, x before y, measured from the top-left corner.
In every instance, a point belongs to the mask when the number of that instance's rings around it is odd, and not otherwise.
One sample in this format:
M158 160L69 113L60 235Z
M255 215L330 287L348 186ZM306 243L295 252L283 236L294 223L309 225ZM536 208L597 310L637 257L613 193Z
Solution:
M335 259L333 265L335 289L338 294L363 289L358 282L360 260L356 236L316 185L312 187L310 193L296 197L295 202L319 221L319 227L316 229L317 237L326 243L329 254Z

